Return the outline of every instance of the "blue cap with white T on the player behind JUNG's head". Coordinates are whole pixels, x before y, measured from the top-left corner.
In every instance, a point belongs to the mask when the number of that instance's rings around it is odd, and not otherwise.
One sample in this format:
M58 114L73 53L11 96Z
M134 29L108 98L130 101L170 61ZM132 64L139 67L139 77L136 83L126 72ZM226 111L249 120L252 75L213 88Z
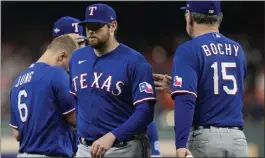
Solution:
M69 33L77 33L82 36L83 39L86 39L83 34L83 27L79 26L78 23L80 23L80 20L76 18L70 16L61 17L53 25L53 37L58 37Z

